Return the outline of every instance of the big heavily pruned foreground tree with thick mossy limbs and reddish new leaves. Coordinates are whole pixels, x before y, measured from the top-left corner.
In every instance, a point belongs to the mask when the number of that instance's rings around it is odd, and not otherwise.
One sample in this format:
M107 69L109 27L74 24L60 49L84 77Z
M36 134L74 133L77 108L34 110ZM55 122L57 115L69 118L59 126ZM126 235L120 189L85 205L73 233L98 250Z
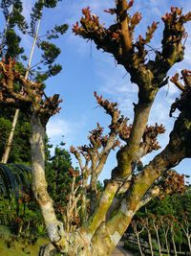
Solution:
M50 251L53 250L66 255L109 255L141 206L157 196L162 197L185 189L183 175L168 171L177 166L182 159L191 156L191 72L189 71L182 71L184 85L180 83L178 75L172 79L180 88L181 95L172 105L170 115L176 109L180 110L180 115L175 121L166 148L159 152L142 171L135 173L135 170L143 155L159 149L157 136L164 132L164 128L157 124L155 127L148 127L148 116L159 89L168 81L167 72L183 58L184 45L181 42L185 36L183 25L191 19L191 12L182 14L182 10L172 8L170 13L162 16L164 31L161 51L155 51L154 60L147 60L146 45L150 42L158 23L154 22L148 27L145 38L139 35L138 40L134 40L134 29L141 16L139 12L130 16L129 10L133 3L134 1L127 3L126 0L117 0L116 8L106 11L117 15L117 22L109 29L99 23L95 14L91 15L89 8L82 11L84 16L80 20L81 26L78 23L74 25L76 35L94 40L98 49L113 54L117 63L123 65L130 74L131 81L138 84L139 89L138 104L134 105L135 117L132 126L127 126L128 119L120 115L116 103L110 103L95 94L97 104L106 110L112 121L109 126L110 132L104 140L100 132L94 133L91 137L89 148L96 154L95 156L94 153L89 153L91 171L100 170L105 164L108 153L115 146L117 135L124 145L117 151L117 167L112 171L111 178L105 182L104 191L96 207L93 207L88 220L74 232L67 232L63 228L63 223L56 219L53 200L47 193L45 179L45 128L49 118L58 111L58 95L46 97L43 91L38 90L37 83L26 81L22 75L14 71L12 60L9 65L4 61L0 62L1 74L4 76L0 105L19 107L27 112L31 119L32 191L52 243L44 246L40 255L50 255ZM25 95L15 92L13 88L15 80L22 84ZM82 149L84 150L86 149ZM96 176L97 174L98 172ZM161 176L164 178L160 179ZM119 207L106 219L106 214L116 198Z

